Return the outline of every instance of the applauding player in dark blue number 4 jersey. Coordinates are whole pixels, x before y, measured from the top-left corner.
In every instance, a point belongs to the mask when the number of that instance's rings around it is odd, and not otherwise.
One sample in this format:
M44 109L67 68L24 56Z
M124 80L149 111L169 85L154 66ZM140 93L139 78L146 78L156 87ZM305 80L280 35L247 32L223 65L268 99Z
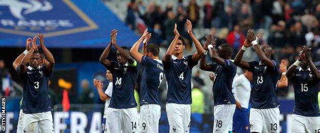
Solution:
M190 34L197 53L183 56L186 47L184 39L174 25L174 38L163 58L164 72L168 83L167 115L170 132L189 132L191 115L191 69L204 53L201 44L192 33L192 25L187 20Z

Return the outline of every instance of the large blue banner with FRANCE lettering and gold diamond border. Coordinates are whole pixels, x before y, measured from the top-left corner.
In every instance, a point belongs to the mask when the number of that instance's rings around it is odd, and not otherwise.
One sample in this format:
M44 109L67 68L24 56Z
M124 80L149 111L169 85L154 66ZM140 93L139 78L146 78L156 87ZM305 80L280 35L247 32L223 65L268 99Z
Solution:
M49 48L105 48L112 29L120 46L138 39L99 0L0 1L0 47L25 47L28 37L44 33Z

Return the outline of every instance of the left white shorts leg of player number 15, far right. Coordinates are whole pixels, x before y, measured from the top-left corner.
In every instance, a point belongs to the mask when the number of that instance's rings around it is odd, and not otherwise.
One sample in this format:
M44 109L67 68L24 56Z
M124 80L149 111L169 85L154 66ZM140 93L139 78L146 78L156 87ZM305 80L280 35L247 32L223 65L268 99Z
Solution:
M305 132L306 127L304 124L304 117L292 114L291 115L291 132L292 133L299 133L299 132Z

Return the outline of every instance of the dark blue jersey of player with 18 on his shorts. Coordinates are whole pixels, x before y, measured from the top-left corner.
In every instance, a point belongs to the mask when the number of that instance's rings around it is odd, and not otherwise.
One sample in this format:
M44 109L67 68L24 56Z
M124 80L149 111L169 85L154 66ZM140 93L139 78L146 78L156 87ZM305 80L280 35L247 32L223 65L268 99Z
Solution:
M210 64L212 72L215 73L213 83L214 106L221 104L235 104L232 94L232 82L236 74L236 66L231 60L225 60L224 65Z

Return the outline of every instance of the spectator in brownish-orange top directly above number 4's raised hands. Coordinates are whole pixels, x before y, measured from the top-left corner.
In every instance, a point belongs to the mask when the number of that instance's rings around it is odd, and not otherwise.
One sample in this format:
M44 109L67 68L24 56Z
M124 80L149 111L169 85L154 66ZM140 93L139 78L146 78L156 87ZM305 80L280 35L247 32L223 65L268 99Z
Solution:
M195 0L190 0L190 3L187 7L188 18L192 23L192 27L196 28L199 20L199 10L200 7L196 4Z

